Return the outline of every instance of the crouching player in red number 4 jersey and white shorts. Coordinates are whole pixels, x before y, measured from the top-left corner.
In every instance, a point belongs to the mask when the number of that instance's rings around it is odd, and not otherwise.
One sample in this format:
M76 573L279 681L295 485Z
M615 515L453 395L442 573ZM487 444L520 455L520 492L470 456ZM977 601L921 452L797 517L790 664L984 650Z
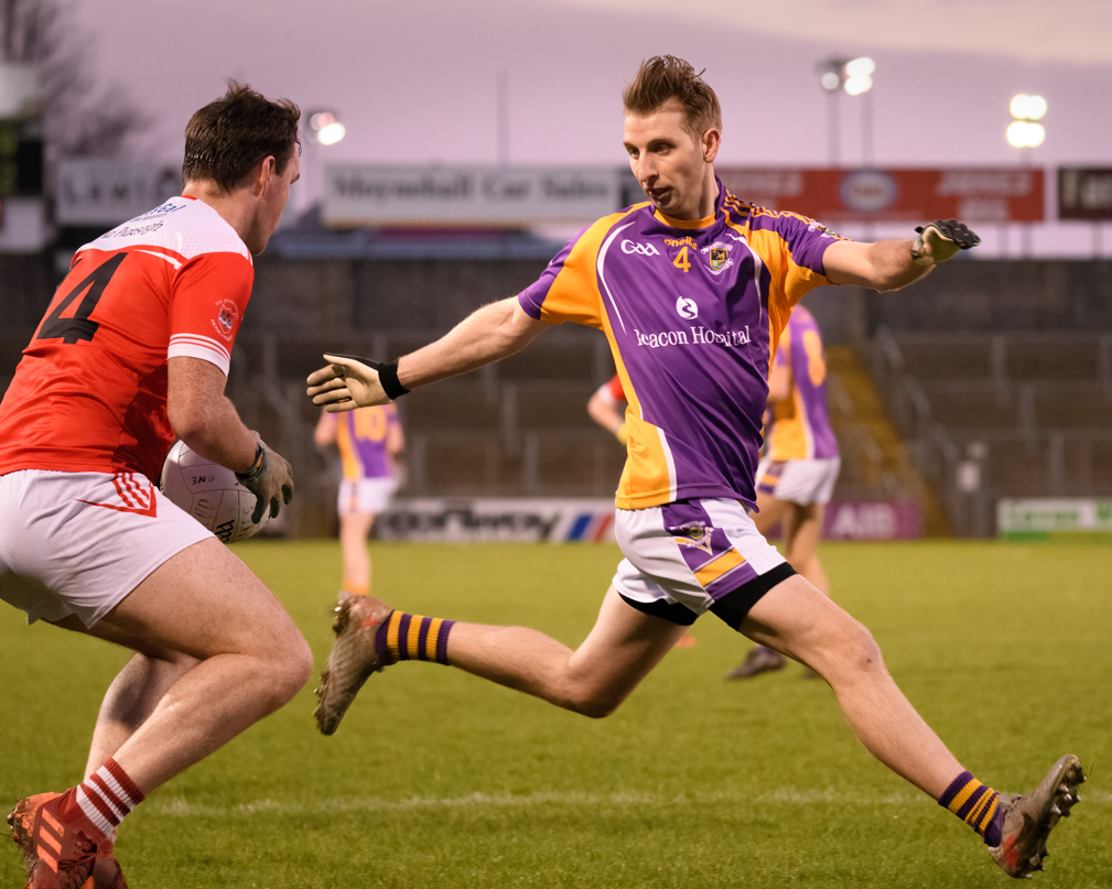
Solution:
M289 465L224 389L251 256L298 178L299 117L237 83L198 111L182 197L77 252L0 404L0 595L29 621L136 651L101 705L85 781L9 818L33 889L90 873L122 886L120 820L312 669L270 591L156 487L177 434L235 470L258 516L292 495Z

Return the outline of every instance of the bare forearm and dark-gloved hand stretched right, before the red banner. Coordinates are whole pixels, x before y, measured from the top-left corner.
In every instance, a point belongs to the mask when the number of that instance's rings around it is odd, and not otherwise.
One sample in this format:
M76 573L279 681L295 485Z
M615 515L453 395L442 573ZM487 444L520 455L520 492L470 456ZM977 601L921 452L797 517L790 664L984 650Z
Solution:
M969 250L981 239L954 219L936 219L915 239L876 243L835 241L826 248L823 264L835 284L857 284L874 290L898 290L927 274L940 262Z

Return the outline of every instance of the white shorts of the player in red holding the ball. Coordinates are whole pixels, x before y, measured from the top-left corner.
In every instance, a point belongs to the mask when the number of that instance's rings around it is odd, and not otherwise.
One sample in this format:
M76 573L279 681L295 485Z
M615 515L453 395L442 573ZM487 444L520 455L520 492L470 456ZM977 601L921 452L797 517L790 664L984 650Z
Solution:
M171 556L212 532L145 476L0 476L0 598L27 622L93 626Z

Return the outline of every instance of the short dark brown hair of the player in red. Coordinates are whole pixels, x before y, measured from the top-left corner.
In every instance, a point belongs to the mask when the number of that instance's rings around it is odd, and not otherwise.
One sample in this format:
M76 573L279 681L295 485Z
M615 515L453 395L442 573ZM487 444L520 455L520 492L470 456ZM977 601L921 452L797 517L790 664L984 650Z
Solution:
M225 191L239 186L260 160L274 156L281 176L301 147L301 110L289 99L271 102L246 83L228 81L222 98L209 102L186 127L181 179L210 179Z

